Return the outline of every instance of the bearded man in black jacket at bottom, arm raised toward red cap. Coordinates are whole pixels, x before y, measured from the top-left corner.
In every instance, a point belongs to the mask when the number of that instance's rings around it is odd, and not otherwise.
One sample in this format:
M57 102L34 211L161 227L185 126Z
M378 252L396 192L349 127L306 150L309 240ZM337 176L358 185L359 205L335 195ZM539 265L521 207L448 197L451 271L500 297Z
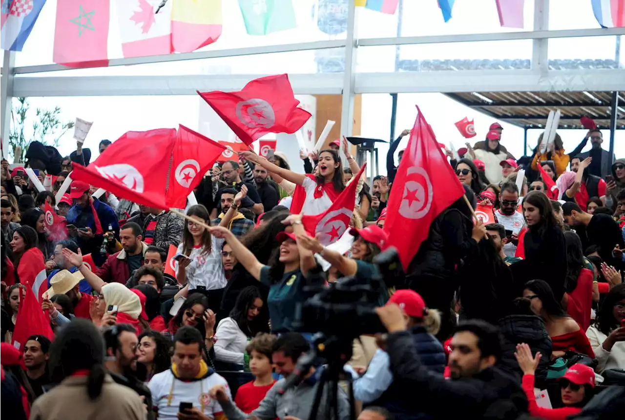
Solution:
M386 352L393 380L405 384L406 398L419 396L416 410L441 419L516 419L527 411L517 379L494 366L501 354L495 326L480 320L457 326L447 362L451 380L446 380L422 366L399 306L386 305L377 313L389 331Z

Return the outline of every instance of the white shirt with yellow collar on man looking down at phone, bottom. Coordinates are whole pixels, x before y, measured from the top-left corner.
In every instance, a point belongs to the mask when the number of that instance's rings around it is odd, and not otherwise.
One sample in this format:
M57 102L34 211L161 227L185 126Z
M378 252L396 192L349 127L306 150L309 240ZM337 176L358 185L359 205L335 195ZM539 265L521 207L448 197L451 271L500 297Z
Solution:
M213 386L220 384L226 387L226 392L232 399L226 379L217 373L198 381L187 382L174 378L171 369L168 369L155 374L149 381L148 387L152 393L152 403L154 407L158 407L159 420L178 420L176 415L180 403L192 403L195 408L201 409L202 402L204 403L204 415L212 419L215 414L223 413L223 409L216 399L209 397L208 393Z

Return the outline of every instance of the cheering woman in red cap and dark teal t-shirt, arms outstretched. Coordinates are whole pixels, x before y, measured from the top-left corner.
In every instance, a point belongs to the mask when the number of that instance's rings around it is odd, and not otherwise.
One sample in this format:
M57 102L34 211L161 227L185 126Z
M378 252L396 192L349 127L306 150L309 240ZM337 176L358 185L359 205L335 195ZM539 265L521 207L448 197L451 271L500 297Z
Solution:
M272 265L264 265L258 261L226 228L213 227L210 230L215 237L226 240L234 256L252 277L269 287L267 306L274 333L292 331L297 303L310 297L304 292L303 286L311 283L307 281L307 277L317 263L312 252L301 245L302 238L307 237L301 218L301 215L289 215L282 222L291 225L293 233L285 231L277 234L276 240L280 246L269 257L269 261L274 261ZM322 278L315 278L314 281L324 281Z

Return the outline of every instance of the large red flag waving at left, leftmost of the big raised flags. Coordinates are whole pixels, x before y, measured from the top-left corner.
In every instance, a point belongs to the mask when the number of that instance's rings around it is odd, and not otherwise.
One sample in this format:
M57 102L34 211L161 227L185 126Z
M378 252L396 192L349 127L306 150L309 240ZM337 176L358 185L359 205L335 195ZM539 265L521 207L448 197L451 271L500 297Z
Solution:
M72 179L104 188L118 198L168 208L165 200L175 129L129 131L88 167L74 164Z

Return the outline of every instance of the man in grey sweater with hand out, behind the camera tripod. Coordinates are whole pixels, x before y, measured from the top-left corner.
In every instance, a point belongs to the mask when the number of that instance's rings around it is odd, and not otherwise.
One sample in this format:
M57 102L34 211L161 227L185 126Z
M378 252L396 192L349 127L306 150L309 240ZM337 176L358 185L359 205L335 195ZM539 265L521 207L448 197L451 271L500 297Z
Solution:
M284 333L276 340L272 348L272 361L276 366L276 373L282 374L282 376L289 376L296 369L297 359L299 356L306 353L310 349L310 344L306 341L306 338L299 333ZM249 416L255 416L260 420L272 420L276 418L280 419L301 419L307 420L310 418L310 411L315 400L317 392L317 386L320 383L321 373L324 370L324 366L311 366L309 371L304 374L302 382L292 388L288 388L284 394L279 393L282 389L286 379L280 379L277 383L269 389L267 395L261 401L259 408L252 411L250 414L243 413L239 410L229 398L226 388L223 385L214 386L211 389L211 399L219 401L221 408L224 410L229 420L243 420L250 418ZM325 414L328 409L326 401L329 401L329 384L323 387L322 403L319 404L316 418L321 420L329 420ZM347 400L347 394L343 389L338 387L337 404L339 409L339 419L349 419L349 401ZM333 417L331 417L333 418Z

